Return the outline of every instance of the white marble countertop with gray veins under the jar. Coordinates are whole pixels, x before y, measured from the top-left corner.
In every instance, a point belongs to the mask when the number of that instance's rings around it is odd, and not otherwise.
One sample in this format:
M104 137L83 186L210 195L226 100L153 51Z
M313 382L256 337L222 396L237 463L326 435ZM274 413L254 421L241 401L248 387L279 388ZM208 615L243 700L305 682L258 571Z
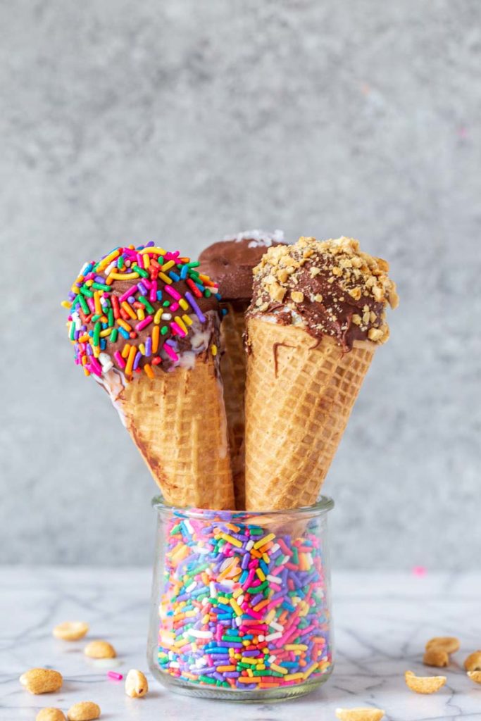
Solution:
M90 638L118 650L116 671L146 671L150 571L123 568L4 567L0 594L0 719L34 720L45 706L68 709L81 700L100 704L102 720L328 721L336 707L374 706L390 721L481 720L481 686L462 670L481 647L481 574L337 573L333 578L335 670L321 689L283 704L213 702L177 696L156 684L144 699L129 699L123 682L84 657L84 642L55 640L51 629L68 619L90 624ZM456 635L462 650L433 696L409 691L404 671L424 673L424 642ZM32 666L57 668L60 694L31 696L19 684ZM436 673L427 670L428 674Z

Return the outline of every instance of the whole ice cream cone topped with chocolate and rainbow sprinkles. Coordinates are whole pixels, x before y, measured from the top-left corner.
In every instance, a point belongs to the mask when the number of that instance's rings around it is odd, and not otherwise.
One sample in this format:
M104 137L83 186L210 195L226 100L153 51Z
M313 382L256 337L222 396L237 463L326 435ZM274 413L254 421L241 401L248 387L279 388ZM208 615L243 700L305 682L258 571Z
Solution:
M153 244L87 263L69 296L69 334L167 503L231 509L220 296L198 265Z

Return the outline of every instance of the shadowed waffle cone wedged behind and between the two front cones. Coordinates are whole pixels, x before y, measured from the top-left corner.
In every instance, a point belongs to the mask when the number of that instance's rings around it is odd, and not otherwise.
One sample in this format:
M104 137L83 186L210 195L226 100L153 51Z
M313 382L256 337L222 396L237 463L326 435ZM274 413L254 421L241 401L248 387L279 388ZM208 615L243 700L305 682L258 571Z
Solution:
M224 403L227 415L227 431L231 454L232 478L236 508L245 508L244 489L244 389L247 355L244 349L247 303L227 306L228 313L221 324L221 376L224 383Z

